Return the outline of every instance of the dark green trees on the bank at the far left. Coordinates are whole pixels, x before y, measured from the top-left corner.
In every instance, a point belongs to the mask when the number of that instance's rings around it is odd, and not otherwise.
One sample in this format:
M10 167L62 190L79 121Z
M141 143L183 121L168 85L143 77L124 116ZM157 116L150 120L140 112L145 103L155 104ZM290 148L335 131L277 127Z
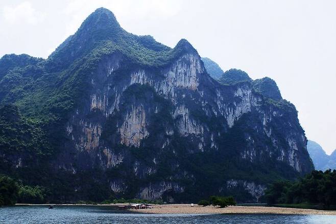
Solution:
M15 203L44 203L45 190L40 186L23 186L7 176L0 176L0 206Z

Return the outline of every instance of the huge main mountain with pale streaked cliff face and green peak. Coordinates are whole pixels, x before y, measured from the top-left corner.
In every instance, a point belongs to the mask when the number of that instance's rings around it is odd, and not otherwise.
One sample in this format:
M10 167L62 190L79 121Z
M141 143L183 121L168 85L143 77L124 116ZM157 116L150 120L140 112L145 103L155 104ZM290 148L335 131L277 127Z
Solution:
M214 80L187 40L130 34L104 8L46 60L0 65L0 172L50 202L255 202L314 169L293 104L241 70Z

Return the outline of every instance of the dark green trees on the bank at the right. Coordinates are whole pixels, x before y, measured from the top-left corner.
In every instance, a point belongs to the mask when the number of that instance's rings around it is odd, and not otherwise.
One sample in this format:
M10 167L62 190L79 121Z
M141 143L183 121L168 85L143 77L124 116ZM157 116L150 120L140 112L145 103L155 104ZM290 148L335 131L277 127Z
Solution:
M276 181L265 192L268 204L336 205L336 170L313 171L297 181Z

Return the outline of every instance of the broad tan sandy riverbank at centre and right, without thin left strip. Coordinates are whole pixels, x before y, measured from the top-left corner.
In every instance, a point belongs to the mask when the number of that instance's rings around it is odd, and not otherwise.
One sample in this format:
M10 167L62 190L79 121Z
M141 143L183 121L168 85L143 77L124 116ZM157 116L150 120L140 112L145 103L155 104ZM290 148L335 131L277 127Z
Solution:
M336 211L324 211L314 209L278 208L259 206L229 206L227 208L215 208L213 206L191 207L190 204L153 205L152 209L132 209L139 213L177 214L177 213L206 213L206 214L319 214L336 215Z

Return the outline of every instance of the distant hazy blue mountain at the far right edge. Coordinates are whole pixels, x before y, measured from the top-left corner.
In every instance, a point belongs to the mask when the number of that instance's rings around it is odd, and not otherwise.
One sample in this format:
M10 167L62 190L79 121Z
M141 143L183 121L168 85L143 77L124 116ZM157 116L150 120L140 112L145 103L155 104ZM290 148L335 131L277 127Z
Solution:
M307 142L307 150L316 170L336 170L336 150L329 156L318 143L311 140Z

